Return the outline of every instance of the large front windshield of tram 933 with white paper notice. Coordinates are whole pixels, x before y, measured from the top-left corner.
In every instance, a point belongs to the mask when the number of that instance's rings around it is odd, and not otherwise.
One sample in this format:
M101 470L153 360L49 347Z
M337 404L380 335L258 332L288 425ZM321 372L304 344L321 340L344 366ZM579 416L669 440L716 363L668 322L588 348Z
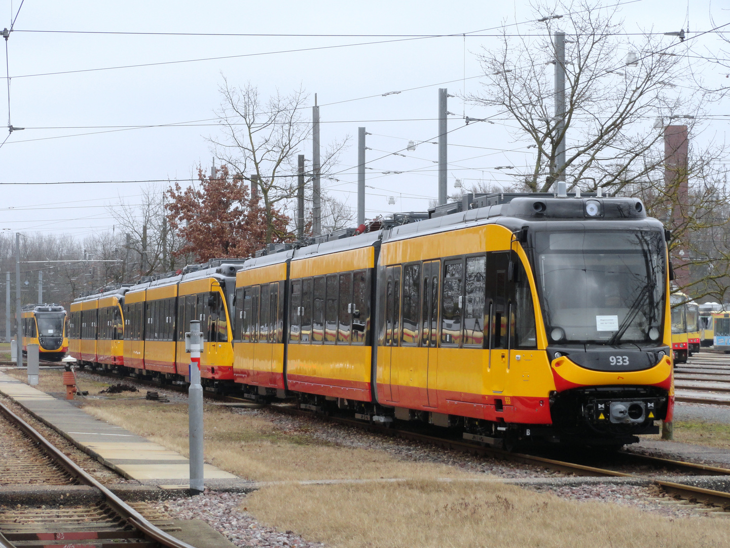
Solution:
M663 236L648 230L537 232L535 266L550 343L660 343Z

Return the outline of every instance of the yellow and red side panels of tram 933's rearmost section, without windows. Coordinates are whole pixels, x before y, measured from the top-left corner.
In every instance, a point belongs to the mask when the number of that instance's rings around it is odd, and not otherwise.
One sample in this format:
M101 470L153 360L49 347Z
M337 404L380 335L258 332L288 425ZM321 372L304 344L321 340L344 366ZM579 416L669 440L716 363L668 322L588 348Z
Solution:
M236 287L271 282L286 283L286 270L285 262L241 270L236 275ZM236 321L242 321L242 318L237 318ZM234 342L233 347L234 381L267 388L284 388L284 343L257 340L255 343Z

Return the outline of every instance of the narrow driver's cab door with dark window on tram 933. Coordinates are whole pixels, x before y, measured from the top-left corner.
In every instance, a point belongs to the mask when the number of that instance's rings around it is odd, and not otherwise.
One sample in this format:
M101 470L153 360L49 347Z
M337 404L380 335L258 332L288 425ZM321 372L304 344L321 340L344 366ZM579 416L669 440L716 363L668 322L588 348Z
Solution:
M501 394L510 367L510 310L507 300L510 254L488 254L488 260L491 262L487 267L487 302L491 300L489 376L492 392Z

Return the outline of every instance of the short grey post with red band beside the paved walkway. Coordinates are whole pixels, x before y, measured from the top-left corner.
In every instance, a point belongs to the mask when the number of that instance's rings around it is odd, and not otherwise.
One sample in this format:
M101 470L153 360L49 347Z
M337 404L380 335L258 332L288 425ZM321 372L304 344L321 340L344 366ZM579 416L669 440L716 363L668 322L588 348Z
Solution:
M190 387L188 388L188 422L190 427L190 490L203 492L203 387L200 384L200 350L203 334L200 321L190 322Z

